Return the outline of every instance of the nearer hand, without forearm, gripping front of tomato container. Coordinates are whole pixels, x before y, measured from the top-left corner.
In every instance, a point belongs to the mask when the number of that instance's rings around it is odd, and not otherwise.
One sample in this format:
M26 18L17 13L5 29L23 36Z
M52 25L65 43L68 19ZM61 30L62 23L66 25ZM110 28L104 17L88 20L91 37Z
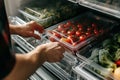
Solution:
M64 57L63 53L65 49L58 42L50 42L39 45L34 51L36 51L44 61L58 62Z

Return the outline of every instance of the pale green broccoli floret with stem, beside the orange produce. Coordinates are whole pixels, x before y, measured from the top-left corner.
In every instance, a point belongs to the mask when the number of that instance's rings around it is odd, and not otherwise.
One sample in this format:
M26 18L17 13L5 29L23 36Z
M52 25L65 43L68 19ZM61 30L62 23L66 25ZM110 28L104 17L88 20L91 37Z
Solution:
M106 68L116 68L116 64L110 60L109 51L105 49L99 50L99 63Z

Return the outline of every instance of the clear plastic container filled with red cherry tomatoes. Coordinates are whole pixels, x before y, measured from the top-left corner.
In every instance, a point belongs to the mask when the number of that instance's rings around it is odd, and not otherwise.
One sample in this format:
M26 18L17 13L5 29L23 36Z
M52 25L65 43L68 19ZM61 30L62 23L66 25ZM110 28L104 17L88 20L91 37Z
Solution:
M51 41L58 41L74 52L109 32L115 24L114 21L87 12L48 28L47 34Z

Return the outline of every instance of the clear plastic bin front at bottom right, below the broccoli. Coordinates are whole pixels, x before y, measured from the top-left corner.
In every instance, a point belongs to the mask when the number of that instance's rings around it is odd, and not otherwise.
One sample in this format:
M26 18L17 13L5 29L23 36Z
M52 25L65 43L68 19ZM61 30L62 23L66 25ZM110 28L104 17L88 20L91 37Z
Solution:
M104 69L94 62L85 61L74 66L72 69L76 73L77 80L114 80L109 70Z

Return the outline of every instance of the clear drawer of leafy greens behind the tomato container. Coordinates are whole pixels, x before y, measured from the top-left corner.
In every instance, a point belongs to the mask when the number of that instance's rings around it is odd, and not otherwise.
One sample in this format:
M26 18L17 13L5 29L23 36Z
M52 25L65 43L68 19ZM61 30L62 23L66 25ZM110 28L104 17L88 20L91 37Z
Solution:
M67 0L41 0L37 2L32 0L32 2L25 4L19 12L27 21L37 21L44 28L47 28L77 15L79 13L78 9L78 4L72 4Z

